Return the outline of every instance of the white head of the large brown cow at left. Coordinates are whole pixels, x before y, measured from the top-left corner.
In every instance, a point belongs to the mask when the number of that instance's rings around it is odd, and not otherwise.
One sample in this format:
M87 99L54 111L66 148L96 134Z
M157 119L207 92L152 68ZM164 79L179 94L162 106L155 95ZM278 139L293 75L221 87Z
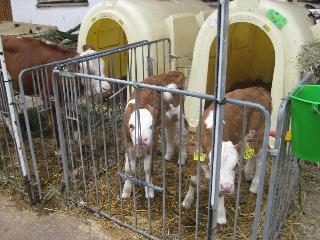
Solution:
M88 47L85 45L83 48L83 52L80 54L80 56L86 56L89 54L95 54L97 53L92 47ZM81 72L85 74L90 74L90 75L96 75L96 76L102 76L105 77L104 75L104 68L105 68L105 63L103 59L101 58L95 58L91 59L88 62L84 62L84 64L80 64L80 69ZM104 95L109 95L111 93L111 86L107 81L98 81L98 80L91 80L91 81L86 81L87 85L89 85L89 89L92 89L92 94L97 94L97 93L102 93Z

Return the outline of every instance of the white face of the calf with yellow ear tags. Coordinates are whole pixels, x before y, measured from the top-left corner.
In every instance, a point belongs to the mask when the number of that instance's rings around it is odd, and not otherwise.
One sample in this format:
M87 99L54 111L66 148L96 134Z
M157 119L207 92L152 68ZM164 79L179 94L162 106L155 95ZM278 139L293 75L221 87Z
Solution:
M219 191L234 192L235 167L238 164L238 152L231 141L222 142Z

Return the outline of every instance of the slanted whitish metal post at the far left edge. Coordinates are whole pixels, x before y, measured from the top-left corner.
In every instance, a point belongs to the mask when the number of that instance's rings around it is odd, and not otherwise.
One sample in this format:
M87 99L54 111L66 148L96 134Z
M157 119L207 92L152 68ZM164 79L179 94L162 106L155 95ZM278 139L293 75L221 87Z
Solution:
M13 131L13 138L17 147L17 152L19 156L20 166L21 166L21 172L23 179L25 181L26 190L28 193L28 196L30 200L32 201L32 195L31 195L31 188L30 188L30 177L28 174L27 169L27 158L26 153L23 145L23 140L21 136L21 130L20 130L20 124L18 119L18 114L15 109L15 103L13 98L13 89L12 89L12 83L9 81L9 76L7 72L6 67L6 61L4 59L4 51L3 51L3 45L2 45L2 38L0 37L0 62L1 62L1 68L2 68L2 74L4 79L4 86L7 94L8 99L8 106L9 106L9 112L10 112L10 118L11 118L11 127Z

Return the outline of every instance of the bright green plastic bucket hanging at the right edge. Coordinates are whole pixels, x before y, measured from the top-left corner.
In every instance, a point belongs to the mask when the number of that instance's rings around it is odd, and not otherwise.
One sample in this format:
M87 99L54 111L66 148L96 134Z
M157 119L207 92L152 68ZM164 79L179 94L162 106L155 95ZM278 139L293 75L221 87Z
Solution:
M320 162L320 85L300 85L291 94L292 152Z

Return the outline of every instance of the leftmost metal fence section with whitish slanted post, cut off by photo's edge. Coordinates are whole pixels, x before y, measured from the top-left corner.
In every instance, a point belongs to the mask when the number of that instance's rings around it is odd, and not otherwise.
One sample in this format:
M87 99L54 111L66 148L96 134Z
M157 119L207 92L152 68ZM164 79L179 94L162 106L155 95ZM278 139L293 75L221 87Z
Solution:
M12 83L7 73L0 38L0 179L17 191L32 198L29 170L25 164L25 150L21 137Z

